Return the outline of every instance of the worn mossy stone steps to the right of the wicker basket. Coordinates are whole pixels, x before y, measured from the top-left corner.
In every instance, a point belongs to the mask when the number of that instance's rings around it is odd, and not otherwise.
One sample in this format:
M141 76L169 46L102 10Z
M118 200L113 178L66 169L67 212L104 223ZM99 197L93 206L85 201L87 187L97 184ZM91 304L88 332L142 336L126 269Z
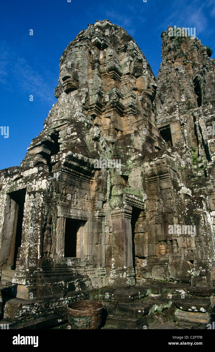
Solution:
M212 290L195 290L189 284L152 281L130 288L103 287L91 291L90 299L104 303L102 329L207 329L214 321Z

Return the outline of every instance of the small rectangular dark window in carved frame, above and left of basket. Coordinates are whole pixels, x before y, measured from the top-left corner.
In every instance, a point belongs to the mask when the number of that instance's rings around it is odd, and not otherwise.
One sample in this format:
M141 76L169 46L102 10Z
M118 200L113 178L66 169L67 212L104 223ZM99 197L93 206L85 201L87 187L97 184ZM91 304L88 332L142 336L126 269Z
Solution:
M64 258L80 257L80 230L83 221L69 218L65 221Z

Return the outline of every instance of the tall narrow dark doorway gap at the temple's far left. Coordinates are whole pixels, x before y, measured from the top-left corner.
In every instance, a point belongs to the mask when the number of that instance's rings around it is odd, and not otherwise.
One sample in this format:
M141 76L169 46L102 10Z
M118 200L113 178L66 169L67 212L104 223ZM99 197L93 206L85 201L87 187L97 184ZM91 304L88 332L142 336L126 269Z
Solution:
M12 270L15 270L16 267L19 266L19 259L20 259L19 255L20 255L20 247L22 242L22 222L24 217L25 195L26 195L26 188L9 194L11 199L14 200L18 205L17 228L16 228L16 235L15 235L14 259L13 259Z

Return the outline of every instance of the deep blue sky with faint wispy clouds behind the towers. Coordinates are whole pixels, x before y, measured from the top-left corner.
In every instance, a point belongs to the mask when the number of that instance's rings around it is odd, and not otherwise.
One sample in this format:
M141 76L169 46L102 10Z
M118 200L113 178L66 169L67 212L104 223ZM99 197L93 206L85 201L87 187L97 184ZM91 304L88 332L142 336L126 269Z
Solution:
M0 135L0 169L19 166L31 140L43 130L44 120L57 101L54 87L63 50L89 23L104 19L131 34L155 76L161 63L160 35L168 25L196 27L196 37L215 54L213 0L2 2L0 126L9 126L9 137Z

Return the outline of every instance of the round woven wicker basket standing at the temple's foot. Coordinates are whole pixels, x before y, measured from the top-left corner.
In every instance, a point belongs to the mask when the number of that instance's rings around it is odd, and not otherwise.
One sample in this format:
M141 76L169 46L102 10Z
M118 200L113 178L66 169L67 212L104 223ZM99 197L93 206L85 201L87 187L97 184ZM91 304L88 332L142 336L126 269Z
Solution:
M67 306L71 329L99 329L102 320L103 302L78 301Z

